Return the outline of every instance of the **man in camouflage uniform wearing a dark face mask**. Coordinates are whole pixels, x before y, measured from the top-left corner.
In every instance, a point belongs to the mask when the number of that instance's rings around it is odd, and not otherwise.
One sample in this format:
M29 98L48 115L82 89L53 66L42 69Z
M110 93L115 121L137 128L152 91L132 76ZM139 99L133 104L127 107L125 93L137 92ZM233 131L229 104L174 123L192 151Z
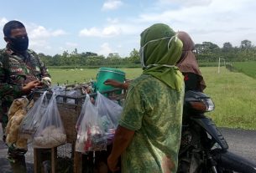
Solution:
M50 82L50 75L37 54L28 49L29 38L23 23L6 23L3 34L7 43L6 48L0 50L0 120L4 133L13 99L28 95L31 89L40 87L41 79ZM26 172L24 154L27 150L18 150L15 144L8 147L8 160L13 172Z

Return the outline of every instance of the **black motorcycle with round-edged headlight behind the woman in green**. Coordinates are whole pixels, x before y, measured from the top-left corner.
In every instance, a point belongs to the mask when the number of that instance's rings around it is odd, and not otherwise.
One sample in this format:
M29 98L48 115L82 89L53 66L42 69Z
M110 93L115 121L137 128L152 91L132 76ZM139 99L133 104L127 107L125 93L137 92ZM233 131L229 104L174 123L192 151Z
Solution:
M185 92L178 173L256 173L256 164L228 151L227 141L206 112L214 109L204 93Z

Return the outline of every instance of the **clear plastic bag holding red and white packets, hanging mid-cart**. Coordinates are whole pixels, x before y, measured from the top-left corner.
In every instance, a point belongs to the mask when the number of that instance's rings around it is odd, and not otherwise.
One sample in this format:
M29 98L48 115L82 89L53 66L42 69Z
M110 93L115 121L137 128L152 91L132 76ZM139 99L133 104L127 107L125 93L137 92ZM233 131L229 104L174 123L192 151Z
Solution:
M85 153L87 151L107 150L107 139L97 107L91 104L88 94L83 109L84 114L81 114L79 119L81 122L76 123L78 125L76 151Z

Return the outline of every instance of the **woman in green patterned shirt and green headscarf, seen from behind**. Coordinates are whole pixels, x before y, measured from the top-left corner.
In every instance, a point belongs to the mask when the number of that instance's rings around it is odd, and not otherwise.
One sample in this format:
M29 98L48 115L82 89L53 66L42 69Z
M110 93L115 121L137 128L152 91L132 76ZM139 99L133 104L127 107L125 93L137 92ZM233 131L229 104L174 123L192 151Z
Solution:
M107 165L122 172L176 172L180 149L184 81L175 67L182 42L168 25L141 33L143 74L134 79L113 140Z

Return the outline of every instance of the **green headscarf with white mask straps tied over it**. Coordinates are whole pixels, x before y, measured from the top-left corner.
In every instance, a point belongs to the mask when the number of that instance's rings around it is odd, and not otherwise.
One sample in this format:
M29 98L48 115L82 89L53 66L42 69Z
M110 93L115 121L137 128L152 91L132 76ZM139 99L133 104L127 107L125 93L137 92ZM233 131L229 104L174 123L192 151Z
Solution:
M143 74L150 74L180 91L184 77L175 64L180 59L182 42L175 32L168 25L157 23L145 29L140 36Z

